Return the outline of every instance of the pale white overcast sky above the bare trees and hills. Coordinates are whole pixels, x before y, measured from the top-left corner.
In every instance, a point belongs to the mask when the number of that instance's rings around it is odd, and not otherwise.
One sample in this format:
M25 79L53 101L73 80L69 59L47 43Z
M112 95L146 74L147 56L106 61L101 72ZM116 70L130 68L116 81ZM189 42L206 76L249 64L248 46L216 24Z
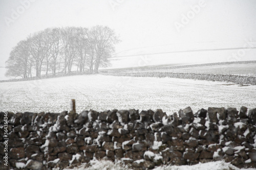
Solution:
M1 0L0 66L18 41L49 27L109 26L122 40L117 56L239 47L248 41L256 46L255 16L254 0ZM256 60L255 56L252 49L241 60ZM214 60L203 62L207 61ZM0 68L0 80L4 71Z

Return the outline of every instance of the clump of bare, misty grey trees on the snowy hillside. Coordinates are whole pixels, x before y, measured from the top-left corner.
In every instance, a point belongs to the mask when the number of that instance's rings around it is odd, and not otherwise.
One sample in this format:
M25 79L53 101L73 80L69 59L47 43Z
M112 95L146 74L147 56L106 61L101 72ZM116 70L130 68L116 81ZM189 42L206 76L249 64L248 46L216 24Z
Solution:
M6 61L6 76L39 78L50 72L56 75L73 70L96 73L100 66L109 65L108 59L118 42L118 36L109 27L48 28L13 47Z

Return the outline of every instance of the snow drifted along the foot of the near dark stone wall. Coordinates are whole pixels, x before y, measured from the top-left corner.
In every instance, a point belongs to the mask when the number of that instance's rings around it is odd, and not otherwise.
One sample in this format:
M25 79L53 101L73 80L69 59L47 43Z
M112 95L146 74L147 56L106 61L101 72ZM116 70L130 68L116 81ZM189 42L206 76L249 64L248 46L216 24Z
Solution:
M123 166L121 164L114 164L111 161L97 161L97 160L92 160L89 163L91 166L90 167L85 167L84 165L81 165L80 167L77 168L66 168L64 170L131 170L127 168L126 166ZM238 170L240 168L233 166L230 163L226 163L223 161L216 161L216 162L208 162L208 163L199 163L196 165L182 165L182 166L159 166L154 168L153 170ZM240 170L245 169L241 168ZM246 168L246 170L253 170L254 168Z

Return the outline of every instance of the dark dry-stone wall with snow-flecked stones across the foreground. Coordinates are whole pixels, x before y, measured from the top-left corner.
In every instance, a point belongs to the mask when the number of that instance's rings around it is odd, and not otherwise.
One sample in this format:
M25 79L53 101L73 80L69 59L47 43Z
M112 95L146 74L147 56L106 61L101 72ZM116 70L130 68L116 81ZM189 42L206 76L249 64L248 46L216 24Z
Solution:
M59 169L93 158L120 160L133 169L225 160L256 167L256 109L190 107L167 116L162 110L83 111L80 114L0 112L1 169Z

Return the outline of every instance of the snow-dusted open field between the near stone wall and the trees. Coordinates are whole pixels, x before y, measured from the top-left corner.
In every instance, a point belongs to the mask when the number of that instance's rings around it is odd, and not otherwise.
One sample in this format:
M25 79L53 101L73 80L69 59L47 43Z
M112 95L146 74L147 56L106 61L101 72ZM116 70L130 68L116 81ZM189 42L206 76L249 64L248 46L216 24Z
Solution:
M77 112L161 108L172 114L190 106L256 108L256 86L175 78L102 75L0 83L0 110L61 112L76 99Z

